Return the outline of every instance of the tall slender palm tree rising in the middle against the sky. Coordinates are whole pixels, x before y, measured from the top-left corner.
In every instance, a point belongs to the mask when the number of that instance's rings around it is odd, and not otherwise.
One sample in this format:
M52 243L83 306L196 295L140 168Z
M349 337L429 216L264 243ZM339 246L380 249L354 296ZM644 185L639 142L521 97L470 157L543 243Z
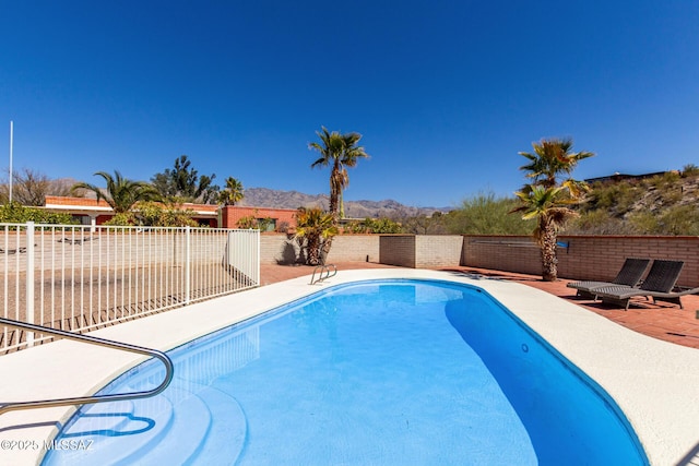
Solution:
M332 166L330 171L330 213L337 218L344 217L342 191L350 184L347 167L355 167L359 158L368 158L364 147L357 143L362 139L359 133L341 134L337 131L328 132L325 127L317 131L321 143L312 142L308 148L318 151L320 157L311 164L313 167Z

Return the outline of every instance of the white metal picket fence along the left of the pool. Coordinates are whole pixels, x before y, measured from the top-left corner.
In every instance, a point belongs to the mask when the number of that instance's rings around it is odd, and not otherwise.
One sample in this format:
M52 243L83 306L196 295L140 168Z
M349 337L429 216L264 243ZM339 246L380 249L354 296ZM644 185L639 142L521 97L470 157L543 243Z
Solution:
M259 283L258 230L0 224L7 319L82 332ZM0 331L0 353L39 340Z

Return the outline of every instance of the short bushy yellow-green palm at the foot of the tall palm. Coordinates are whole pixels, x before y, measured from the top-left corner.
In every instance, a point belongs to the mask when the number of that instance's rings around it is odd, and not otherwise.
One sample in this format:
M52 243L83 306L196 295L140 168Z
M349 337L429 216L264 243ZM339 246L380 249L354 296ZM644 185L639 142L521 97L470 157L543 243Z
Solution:
M337 235L335 217L319 207L299 207L296 212L296 237L306 242L306 263L322 263L321 254L328 253L332 237ZM303 244L301 244L303 246Z

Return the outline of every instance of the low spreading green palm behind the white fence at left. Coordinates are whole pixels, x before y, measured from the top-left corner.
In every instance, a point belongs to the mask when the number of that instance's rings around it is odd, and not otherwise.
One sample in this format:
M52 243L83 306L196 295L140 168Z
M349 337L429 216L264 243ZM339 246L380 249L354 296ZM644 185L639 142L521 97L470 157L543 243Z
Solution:
M105 190L95 184L79 182L73 184L71 192L74 193L81 189L92 191L97 196L97 201L104 199L116 214L129 212L140 201L159 200L158 192L151 184L123 178L117 170L114 177L106 171L97 171L95 176L104 178L107 183Z

